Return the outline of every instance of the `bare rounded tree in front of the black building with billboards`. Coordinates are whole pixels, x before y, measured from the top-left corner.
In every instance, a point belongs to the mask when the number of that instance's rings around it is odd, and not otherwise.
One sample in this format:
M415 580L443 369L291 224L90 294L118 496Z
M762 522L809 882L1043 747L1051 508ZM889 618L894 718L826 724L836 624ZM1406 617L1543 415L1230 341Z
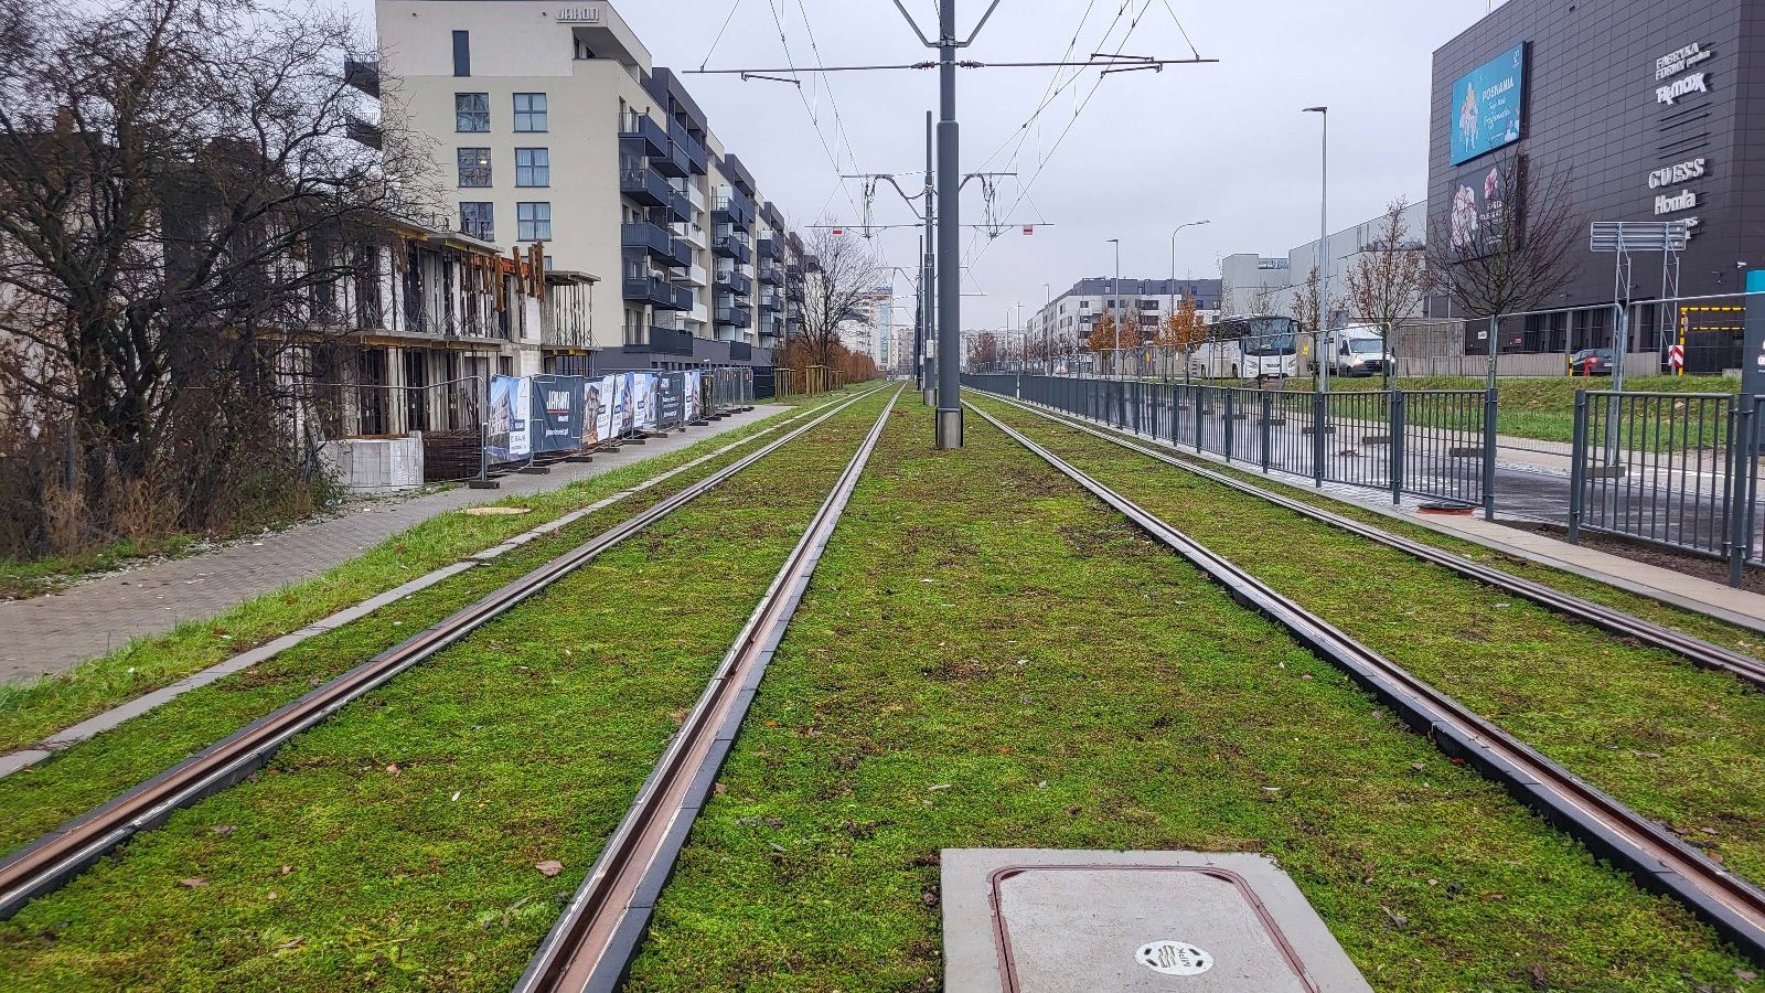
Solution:
M1493 159L1477 182L1456 184L1451 208L1430 219L1428 267L1440 292L1465 316L1490 322L1491 389L1502 315L1562 290L1580 237L1569 173L1534 175L1523 155Z

